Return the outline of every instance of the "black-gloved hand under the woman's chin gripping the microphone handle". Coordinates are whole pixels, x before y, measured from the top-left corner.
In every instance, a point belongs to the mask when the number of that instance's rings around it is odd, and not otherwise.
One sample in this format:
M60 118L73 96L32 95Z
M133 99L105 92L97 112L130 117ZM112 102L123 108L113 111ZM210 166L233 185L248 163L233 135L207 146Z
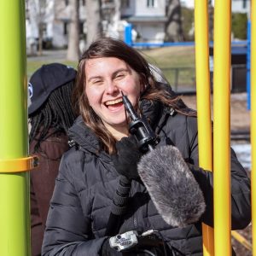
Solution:
M112 160L117 172L129 179L139 179L137 163L142 153L137 148L136 137L123 137L115 146L117 154L112 155Z

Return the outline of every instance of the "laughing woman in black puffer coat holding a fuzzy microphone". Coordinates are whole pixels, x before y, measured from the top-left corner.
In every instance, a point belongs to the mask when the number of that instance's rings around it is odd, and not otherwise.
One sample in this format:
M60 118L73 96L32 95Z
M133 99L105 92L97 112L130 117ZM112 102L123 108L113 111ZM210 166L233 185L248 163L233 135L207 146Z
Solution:
M158 138L153 150L139 146L135 126L129 130L125 97ZM199 167L196 112L154 79L136 49L113 38L85 50L74 98L74 146L61 159L42 254L202 255L201 223L213 225L213 177ZM250 181L233 150L230 160L232 229L243 229Z

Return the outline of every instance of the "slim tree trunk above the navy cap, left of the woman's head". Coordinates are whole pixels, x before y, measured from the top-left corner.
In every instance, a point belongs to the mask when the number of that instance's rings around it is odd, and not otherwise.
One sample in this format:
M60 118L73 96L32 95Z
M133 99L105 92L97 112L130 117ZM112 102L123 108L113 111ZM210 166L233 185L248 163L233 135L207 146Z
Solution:
M68 27L67 60L79 60L79 0L69 0L70 22Z

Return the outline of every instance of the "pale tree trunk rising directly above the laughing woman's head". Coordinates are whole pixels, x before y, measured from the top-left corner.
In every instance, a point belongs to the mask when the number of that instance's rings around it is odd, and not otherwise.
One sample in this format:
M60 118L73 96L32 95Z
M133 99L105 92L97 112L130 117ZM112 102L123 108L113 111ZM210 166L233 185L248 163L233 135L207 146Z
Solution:
M102 36L102 1L86 0L87 47Z

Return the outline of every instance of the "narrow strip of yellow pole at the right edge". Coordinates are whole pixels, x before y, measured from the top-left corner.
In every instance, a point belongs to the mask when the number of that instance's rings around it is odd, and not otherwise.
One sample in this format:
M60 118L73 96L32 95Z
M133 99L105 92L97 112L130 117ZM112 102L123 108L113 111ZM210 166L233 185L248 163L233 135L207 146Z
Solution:
M251 146L253 255L256 255L256 1L251 2Z

